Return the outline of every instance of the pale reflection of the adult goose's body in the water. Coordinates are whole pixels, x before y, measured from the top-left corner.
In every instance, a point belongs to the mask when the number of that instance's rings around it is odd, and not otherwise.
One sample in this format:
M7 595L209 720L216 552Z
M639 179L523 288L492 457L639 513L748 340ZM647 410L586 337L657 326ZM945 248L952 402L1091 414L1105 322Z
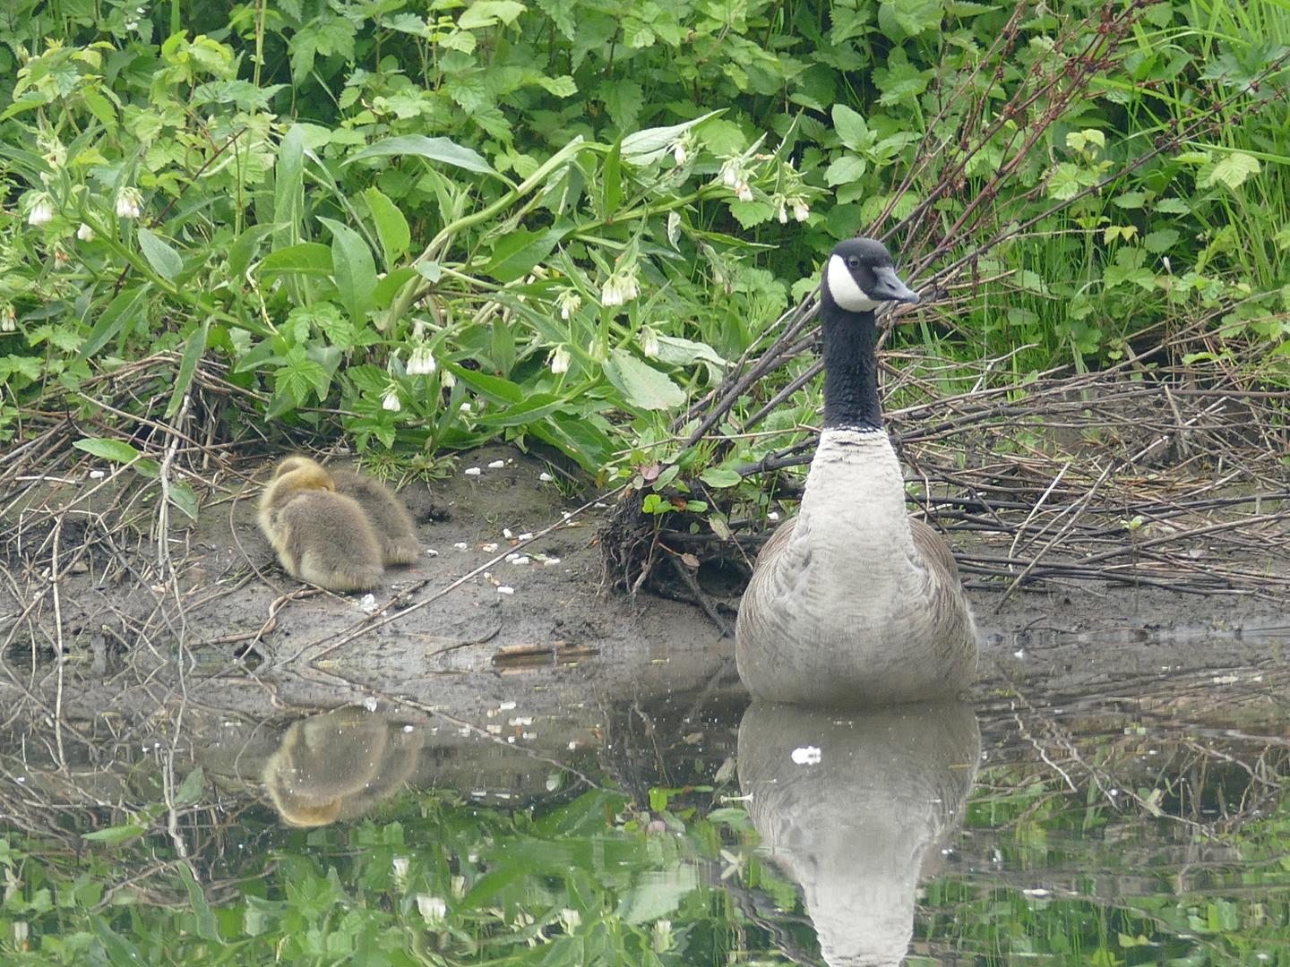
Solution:
M801 886L831 967L902 963L918 879L962 825L979 761L977 718L960 703L744 713L748 812Z

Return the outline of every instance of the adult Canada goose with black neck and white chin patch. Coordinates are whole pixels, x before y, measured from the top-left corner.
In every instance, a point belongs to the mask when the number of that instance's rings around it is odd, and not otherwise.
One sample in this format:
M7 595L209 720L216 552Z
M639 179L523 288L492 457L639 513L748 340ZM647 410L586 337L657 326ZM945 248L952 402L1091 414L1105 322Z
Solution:
M893 704L952 696L977 667L977 628L944 542L906 512L882 429L873 309L917 302L873 239L824 264L824 427L801 509L766 542L735 625L755 698Z

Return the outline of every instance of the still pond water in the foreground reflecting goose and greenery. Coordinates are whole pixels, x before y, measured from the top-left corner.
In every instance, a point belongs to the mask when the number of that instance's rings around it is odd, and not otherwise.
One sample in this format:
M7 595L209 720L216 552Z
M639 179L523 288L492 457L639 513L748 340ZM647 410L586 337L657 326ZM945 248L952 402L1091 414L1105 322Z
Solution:
M6 721L0 962L1290 963L1287 674L267 718L159 678Z

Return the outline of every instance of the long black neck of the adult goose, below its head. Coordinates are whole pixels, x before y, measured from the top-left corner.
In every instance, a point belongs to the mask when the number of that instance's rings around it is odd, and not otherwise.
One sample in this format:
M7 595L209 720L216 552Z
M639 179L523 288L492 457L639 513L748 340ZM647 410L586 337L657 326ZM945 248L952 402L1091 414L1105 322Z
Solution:
M849 312L832 299L820 306L824 337L824 428L882 427L878 409L873 313Z

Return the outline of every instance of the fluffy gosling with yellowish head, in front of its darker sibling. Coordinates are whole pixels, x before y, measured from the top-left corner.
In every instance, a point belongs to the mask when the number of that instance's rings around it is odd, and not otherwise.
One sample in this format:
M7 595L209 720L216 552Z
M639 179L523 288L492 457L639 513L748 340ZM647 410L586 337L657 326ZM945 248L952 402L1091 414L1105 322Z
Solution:
M335 493L313 460L289 458L259 502L264 531L283 567L328 591L368 591L381 583L381 543L353 499Z

